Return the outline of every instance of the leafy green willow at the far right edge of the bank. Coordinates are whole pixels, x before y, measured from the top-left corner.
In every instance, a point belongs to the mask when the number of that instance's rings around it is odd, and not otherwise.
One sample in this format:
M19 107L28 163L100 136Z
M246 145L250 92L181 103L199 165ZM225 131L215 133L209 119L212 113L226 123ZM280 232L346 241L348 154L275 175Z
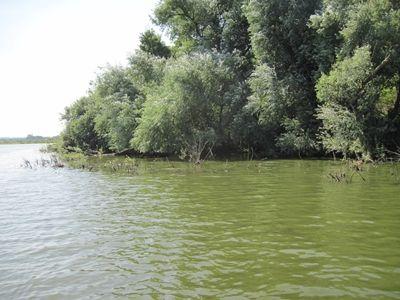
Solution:
M326 1L325 11L318 17L319 30L323 32L329 23L327 19L336 16L341 24L342 42L333 69L317 85L321 102L319 117L324 123L323 143L326 146L330 144L328 141L336 140L333 144L339 145L337 141L345 139L345 126L335 129L327 125L335 123L334 114L329 113L329 109L335 109L352 116L355 126L348 129L356 128L358 134L350 136L352 139L358 136L359 145L357 150L353 147L353 152L377 156L380 148L395 149L400 145L398 2L353 0L343 5L343 1ZM351 139L348 142L351 144ZM342 152L348 151L345 148Z

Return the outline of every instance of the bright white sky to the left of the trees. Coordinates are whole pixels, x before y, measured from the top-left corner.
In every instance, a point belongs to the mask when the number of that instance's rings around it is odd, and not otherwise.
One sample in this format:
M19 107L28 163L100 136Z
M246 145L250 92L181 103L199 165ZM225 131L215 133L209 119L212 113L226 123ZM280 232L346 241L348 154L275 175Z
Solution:
M0 137L60 133L99 67L126 64L158 0L0 0Z

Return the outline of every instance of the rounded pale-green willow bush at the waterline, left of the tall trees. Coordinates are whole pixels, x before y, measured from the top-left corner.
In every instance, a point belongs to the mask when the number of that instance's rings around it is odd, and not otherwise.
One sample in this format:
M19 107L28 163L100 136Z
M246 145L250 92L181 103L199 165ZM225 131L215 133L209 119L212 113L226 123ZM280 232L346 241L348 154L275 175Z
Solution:
M133 146L199 160L214 144L229 143L230 124L242 104L226 62L212 53L170 61L162 84L148 95Z

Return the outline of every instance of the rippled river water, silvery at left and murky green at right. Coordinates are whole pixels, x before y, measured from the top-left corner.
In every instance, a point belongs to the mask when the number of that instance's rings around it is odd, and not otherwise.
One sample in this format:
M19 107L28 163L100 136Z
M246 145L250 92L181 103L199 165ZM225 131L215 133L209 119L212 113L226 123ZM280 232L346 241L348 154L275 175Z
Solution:
M0 146L2 299L400 299L399 166L20 168L38 149Z

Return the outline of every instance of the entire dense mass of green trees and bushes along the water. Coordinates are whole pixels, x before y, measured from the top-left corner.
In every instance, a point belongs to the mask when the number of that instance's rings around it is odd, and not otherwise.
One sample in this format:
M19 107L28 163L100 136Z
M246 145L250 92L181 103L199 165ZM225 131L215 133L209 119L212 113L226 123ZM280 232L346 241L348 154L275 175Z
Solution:
M66 149L378 158L400 147L397 0L162 0L125 67L66 108Z

